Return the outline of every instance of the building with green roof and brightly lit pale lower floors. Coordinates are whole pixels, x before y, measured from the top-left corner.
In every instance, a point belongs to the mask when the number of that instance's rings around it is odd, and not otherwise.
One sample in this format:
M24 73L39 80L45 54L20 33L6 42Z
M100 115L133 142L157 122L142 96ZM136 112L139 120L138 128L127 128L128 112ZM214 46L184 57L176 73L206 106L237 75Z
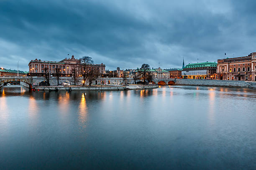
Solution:
M217 69L216 62L199 62L188 64L182 70L182 78L188 79L215 79Z

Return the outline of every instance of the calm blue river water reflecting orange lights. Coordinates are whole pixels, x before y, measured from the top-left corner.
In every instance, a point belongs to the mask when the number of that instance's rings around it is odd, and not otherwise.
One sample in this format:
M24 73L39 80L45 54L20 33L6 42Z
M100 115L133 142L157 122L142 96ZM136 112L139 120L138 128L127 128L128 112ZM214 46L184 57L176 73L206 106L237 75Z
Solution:
M0 169L256 169L256 90L5 87Z

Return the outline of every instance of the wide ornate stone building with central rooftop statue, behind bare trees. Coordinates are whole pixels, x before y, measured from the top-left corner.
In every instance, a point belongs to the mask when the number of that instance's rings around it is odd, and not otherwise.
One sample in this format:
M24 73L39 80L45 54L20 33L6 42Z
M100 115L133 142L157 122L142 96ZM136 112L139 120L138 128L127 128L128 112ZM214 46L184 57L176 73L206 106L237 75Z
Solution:
M71 58L65 58L61 61L43 61L43 60L31 60L28 64L29 67L29 76L44 76L45 75L45 67L49 68L49 72L51 75L55 75L56 68L60 69L61 76L72 76L72 70L75 70L76 75L79 76L81 67L80 60L74 58L72 55ZM90 64L87 66L87 69L94 68L100 72L100 74L105 73L105 65L104 64Z

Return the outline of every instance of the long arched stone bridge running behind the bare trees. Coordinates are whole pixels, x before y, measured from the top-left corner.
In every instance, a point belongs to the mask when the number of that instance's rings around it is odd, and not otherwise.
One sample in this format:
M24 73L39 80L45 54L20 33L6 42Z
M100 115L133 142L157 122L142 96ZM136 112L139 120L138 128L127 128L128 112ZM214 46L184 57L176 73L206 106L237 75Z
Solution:
M20 85L23 85L28 88L33 88L34 86L39 85L41 82L46 81L45 77L17 77L17 76L1 76L0 77L0 88L3 85L6 85L8 82L20 82ZM138 80L141 81L141 80ZM56 77L49 78L50 85L57 85L58 81ZM74 77L59 77L59 84L64 82L74 85ZM133 84L134 80L132 78L127 78L129 84ZM172 85L175 83L175 79L153 79L153 84L158 85ZM121 85L123 84L123 78L121 77L99 77L93 82L95 85ZM76 77L76 85L82 85L82 77Z

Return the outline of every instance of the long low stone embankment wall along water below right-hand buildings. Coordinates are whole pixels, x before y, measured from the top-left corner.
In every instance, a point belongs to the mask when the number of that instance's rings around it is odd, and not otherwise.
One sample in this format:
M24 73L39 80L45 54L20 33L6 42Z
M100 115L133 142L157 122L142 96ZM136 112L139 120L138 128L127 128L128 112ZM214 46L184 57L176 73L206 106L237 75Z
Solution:
M249 87L253 85L246 81L233 80L195 80L195 79L176 79L175 85L200 85L200 86L225 86L225 87Z

